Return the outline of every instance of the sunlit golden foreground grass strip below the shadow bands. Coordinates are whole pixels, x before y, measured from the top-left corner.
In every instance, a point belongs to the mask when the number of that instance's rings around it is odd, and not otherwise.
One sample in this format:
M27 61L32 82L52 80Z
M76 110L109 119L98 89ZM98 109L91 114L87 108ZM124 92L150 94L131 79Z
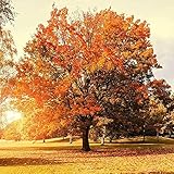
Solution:
M44 164L0 166L4 174L117 174L117 173L174 173L173 156L100 158L82 161Z

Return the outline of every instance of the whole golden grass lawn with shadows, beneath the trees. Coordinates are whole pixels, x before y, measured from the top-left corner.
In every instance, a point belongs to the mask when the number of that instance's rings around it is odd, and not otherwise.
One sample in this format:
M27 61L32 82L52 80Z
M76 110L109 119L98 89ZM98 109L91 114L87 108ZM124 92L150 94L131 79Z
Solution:
M80 140L1 141L0 174L174 173L174 140L124 139L80 151Z

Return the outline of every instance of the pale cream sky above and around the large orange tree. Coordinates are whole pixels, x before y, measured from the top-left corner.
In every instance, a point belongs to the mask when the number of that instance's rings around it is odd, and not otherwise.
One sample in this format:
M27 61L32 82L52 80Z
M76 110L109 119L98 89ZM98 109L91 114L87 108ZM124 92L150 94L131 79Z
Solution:
M20 55L25 42L36 33L38 24L49 20L53 2L59 9L67 7L70 12L111 7L119 14L146 20L150 24L156 54L163 66L156 71L156 75L165 78L174 88L174 0L13 0L18 14L12 30Z

